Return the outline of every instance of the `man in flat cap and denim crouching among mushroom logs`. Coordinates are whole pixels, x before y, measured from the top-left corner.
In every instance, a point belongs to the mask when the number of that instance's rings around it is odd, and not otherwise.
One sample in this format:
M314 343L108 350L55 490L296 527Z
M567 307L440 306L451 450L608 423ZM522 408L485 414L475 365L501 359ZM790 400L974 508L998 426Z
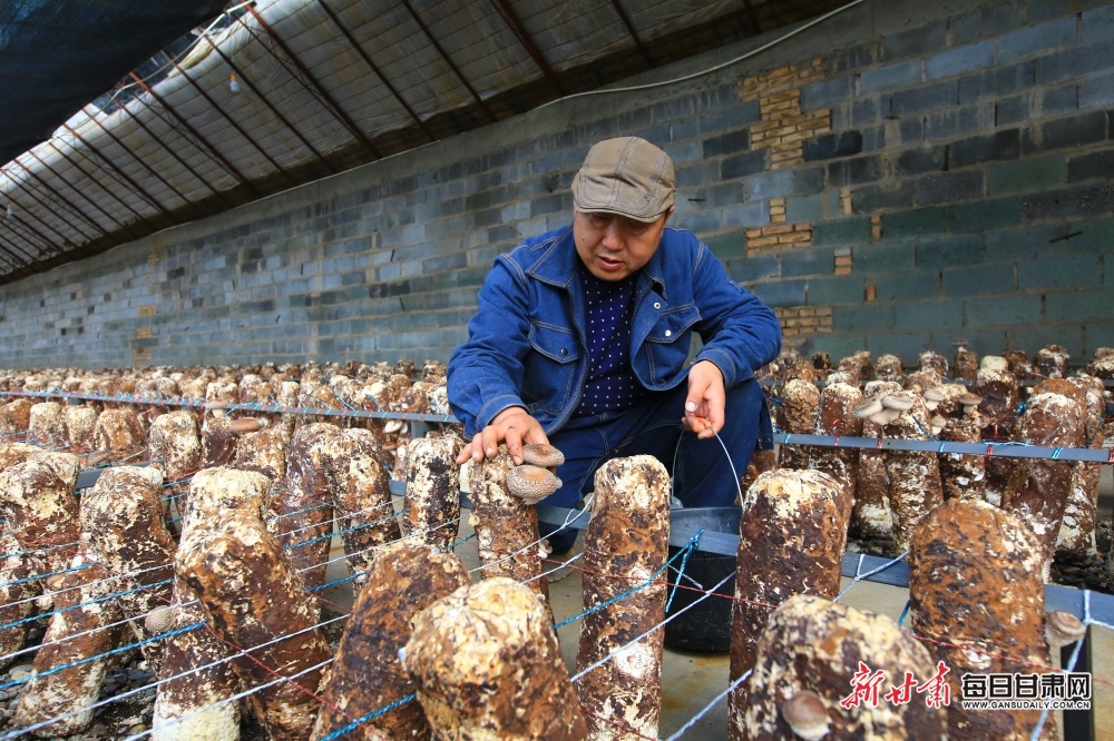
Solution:
M776 357L781 328L707 247L666 227L674 194L664 151L602 141L573 180L573 225L496 259L449 360L471 441L457 463L501 443L521 463L524 443L550 443L564 487L544 504L571 507L604 462L648 454L685 506L735 501L755 443L771 444L754 370ZM704 344L688 365L693 332ZM575 536L551 533L554 552Z

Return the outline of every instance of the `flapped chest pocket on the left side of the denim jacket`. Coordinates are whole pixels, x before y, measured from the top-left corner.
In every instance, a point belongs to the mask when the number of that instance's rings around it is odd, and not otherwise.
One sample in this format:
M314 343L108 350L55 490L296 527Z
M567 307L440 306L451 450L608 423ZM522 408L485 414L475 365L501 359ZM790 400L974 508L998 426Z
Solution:
M524 359L522 401L549 415L573 402L580 370L580 345L571 330L551 324L530 324L530 352ZM535 416L537 416L535 414Z

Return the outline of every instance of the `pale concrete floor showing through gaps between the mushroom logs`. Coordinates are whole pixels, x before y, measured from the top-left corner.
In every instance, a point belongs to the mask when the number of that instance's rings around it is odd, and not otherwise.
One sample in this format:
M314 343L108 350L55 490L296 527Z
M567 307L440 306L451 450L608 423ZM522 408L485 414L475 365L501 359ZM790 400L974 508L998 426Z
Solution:
M1114 503L1114 486L1104 473L1103 504L1104 516L1110 517L1111 505ZM467 521L467 516L463 518ZM461 524L461 537L472 533L466 522ZM583 536L582 536L583 537ZM466 541L458 546L457 554L469 569L479 565L475 540ZM343 555L339 539L334 540L331 559ZM341 561L330 566L326 581L344 576ZM851 580L844 579L843 585ZM888 586L872 582L859 582L841 600L843 604L859 610L869 610L888 615L897 621L905 609L908 591L901 587ZM352 604L351 589L348 582L330 587L325 599L350 607ZM575 569L564 580L550 585L550 599L557 622L579 614L583 611L580 600L580 573ZM575 672L577 643L579 640L580 621L574 621L558 631L561 653L569 666L569 673ZM1095 728L1097 739L1110 738L1110 729L1114 729L1114 633L1095 628L1093 633L1093 688L1095 708ZM659 737L667 739L685 725L694 715L704 712L705 708L727 686L729 659L726 653L698 653L690 651L665 650L663 662L663 705L659 723ZM726 738L727 702L721 699L700 718L695 724L685 731L683 738L687 741L722 741Z

